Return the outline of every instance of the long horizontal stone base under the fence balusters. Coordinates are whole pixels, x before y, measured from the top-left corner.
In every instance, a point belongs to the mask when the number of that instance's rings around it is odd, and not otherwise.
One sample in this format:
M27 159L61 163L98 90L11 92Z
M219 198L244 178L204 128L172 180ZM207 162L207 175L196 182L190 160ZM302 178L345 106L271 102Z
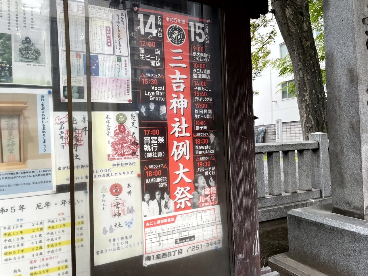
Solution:
M308 194L308 193L305 193L305 194ZM298 195L298 194L294 194L294 195ZM278 198L278 197L286 198L286 197L289 197L289 195L288 196L279 195L274 198ZM303 207L320 205L320 204L328 204L331 202L332 202L331 197L326 197L326 198L314 198L314 199L296 201L296 202L287 203L287 204L280 204L280 205L258 208L258 222L264 222L266 220L280 219L281 217L286 217L287 212L289 212L290 210L296 209L296 208L303 208Z

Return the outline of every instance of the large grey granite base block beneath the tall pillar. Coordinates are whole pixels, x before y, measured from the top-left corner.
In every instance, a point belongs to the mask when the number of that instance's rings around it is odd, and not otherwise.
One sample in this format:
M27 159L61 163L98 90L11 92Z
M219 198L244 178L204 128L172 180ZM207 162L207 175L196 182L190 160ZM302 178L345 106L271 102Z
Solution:
M326 204L288 213L290 258L329 276L367 276L368 222L331 211Z

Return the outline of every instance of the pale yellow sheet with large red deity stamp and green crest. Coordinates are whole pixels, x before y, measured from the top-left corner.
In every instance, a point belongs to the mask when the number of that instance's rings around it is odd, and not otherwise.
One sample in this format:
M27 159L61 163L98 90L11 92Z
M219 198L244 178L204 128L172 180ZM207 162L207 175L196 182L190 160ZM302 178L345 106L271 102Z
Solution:
M93 178L140 173L136 112L92 112L92 130Z

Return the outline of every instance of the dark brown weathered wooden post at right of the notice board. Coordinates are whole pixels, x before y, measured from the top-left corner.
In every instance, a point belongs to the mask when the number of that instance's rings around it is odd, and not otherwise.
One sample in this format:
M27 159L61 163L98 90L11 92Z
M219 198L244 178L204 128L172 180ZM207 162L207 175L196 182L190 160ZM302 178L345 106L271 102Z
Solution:
M236 276L261 275L249 11L244 3L234 2L224 9L226 120Z

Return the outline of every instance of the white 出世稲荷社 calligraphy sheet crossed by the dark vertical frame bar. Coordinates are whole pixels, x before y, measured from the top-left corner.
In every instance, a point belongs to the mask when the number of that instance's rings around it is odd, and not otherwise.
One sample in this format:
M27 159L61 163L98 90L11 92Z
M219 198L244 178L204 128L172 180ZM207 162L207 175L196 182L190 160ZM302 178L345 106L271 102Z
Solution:
M70 183L69 147L73 147L74 182L88 182L88 120L87 112L74 111L72 115L73 141L69 141L68 112L54 112L56 185Z

